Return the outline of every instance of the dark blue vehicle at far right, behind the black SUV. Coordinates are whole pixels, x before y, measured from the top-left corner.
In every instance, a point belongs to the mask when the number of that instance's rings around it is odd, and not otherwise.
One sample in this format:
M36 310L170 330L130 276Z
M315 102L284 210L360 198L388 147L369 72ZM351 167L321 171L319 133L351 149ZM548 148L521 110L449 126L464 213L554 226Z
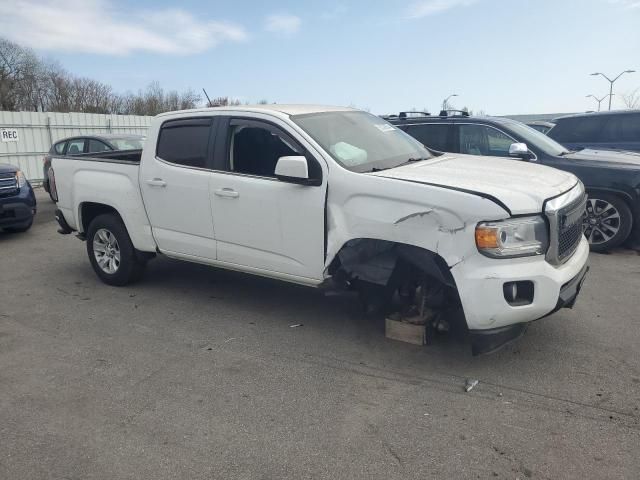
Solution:
M640 110L592 112L556 118L547 135L570 150L640 152Z

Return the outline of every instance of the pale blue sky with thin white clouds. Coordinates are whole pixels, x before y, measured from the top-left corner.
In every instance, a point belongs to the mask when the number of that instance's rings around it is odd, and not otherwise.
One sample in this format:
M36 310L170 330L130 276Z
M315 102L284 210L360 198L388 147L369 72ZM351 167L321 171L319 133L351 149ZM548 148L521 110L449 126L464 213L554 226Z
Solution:
M640 88L640 0L0 0L0 36L118 92L577 112ZM614 96L614 108L622 107ZM603 105L606 101L603 102Z

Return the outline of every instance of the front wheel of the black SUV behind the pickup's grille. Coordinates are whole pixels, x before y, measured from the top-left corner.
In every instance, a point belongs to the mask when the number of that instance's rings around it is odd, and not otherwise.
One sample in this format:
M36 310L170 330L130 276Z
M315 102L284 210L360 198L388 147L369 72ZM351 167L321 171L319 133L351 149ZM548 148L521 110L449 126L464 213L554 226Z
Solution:
M589 193L582 225L591 251L606 252L627 239L633 228L633 215L620 197Z

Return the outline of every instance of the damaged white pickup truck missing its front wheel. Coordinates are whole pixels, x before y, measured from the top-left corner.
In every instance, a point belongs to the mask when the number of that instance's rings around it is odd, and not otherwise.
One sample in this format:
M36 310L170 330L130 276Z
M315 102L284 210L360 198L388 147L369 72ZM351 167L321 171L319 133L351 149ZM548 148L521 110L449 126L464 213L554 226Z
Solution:
M588 270L582 184L516 161L436 155L354 109L268 105L158 115L142 153L53 157L49 180L60 232L110 285L163 254L434 322L461 306L484 353L573 306Z

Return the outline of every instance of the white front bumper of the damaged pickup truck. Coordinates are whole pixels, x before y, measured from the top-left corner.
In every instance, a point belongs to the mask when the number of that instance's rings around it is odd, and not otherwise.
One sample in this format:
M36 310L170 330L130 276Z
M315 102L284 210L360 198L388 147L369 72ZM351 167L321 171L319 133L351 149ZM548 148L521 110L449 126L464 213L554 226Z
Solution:
M491 330L527 323L554 312L559 303L568 306L563 291L585 269L589 244L582 238L569 260L553 266L544 257L494 260L473 255L451 269L460 294L469 330ZM531 281L533 301L512 306L504 297L504 284ZM577 290L577 288L576 288Z

